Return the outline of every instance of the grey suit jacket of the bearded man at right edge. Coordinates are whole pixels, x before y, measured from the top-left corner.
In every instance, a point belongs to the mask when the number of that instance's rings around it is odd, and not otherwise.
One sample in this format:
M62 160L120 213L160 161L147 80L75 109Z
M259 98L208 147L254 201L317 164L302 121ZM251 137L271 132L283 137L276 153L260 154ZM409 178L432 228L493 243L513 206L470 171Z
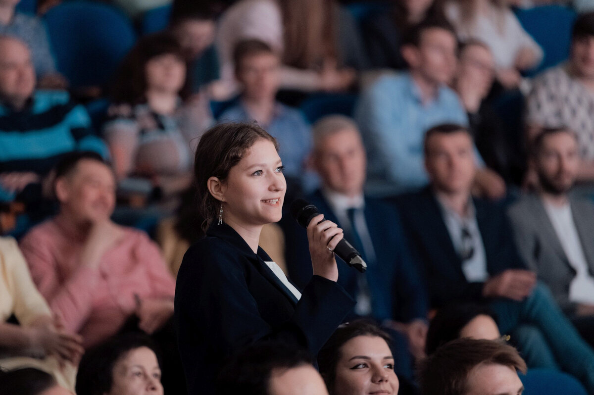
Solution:
M570 199L571 214L582 243L590 275L594 275L594 205ZM557 303L568 314L576 304L569 301L569 286L576 276L538 195L527 195L508 209L520 255L539 279L549 286Z

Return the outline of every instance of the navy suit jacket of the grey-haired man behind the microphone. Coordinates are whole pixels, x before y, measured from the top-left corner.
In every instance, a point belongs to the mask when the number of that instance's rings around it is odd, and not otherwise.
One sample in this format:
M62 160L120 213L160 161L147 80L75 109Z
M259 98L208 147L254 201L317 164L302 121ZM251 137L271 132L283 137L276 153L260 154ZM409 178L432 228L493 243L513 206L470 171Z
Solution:
M340 226L336 214L320 191L309 195L307 201L314 204L326 219ZM386 319L404 322L415 318L426 319L428 295L406 246L397 211L384 201L365 197L364 214L376 260L374 263L368 261L367 271L361 274L337 258L339 284L355 296L357 277L365 276L371 293L372 316L380 322ZM307 233L296 225L294 219L283 218L282 225L286 232L289 276L298 285L305 284L312 276Z

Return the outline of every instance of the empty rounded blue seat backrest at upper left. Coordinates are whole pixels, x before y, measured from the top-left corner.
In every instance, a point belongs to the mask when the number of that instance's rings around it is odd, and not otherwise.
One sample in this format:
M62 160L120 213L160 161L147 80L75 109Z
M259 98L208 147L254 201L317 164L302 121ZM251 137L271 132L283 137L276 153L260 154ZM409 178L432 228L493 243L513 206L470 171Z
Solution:
M56 67L74 88L107 83L136 40L131 21L99 2L64 2L43 19Z

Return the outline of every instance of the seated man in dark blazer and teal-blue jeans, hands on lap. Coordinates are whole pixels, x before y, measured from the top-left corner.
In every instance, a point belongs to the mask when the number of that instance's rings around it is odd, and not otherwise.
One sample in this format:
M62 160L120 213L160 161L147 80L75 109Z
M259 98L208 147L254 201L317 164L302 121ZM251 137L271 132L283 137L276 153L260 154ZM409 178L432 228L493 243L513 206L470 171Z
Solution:
M512 333L533 366L565 369L594 391L594 352L536 283L517 253L505 215L473 199L472 137L459 125L425 135L428 188L397 199L413 254L421 261L431 304L488 303L502 333Z

